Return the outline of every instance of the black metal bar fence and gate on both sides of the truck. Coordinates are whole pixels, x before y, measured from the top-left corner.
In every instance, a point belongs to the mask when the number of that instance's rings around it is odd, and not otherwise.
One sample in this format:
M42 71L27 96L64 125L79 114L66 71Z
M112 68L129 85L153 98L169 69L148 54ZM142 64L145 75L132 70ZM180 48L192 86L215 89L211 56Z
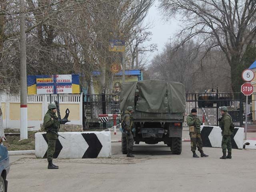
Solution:
M110 120L106 124L98 121L99 114L119 114L119 95L100 94L84 95L83 100L83 125L85 128L110 128L113 126ZM248 124L256 125L256 93L249 96ZM192 108L196 108L205 125L218 126L218 118L221 117L220 107L226 106L228 113L236 126L245 124L246 98L242 93L188 93L186 94L186 117Z

